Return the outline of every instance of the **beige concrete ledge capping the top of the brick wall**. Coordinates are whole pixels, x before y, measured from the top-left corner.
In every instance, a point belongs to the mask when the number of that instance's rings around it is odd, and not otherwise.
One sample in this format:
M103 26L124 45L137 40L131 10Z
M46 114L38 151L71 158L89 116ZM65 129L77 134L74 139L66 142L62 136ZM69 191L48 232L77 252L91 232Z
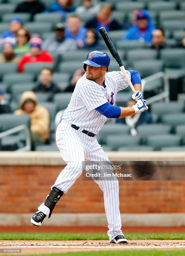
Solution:
M110 161L185 161L185 152L121 152L109 151ZM52 165L65 166L60 152L0 152L0 165Z

